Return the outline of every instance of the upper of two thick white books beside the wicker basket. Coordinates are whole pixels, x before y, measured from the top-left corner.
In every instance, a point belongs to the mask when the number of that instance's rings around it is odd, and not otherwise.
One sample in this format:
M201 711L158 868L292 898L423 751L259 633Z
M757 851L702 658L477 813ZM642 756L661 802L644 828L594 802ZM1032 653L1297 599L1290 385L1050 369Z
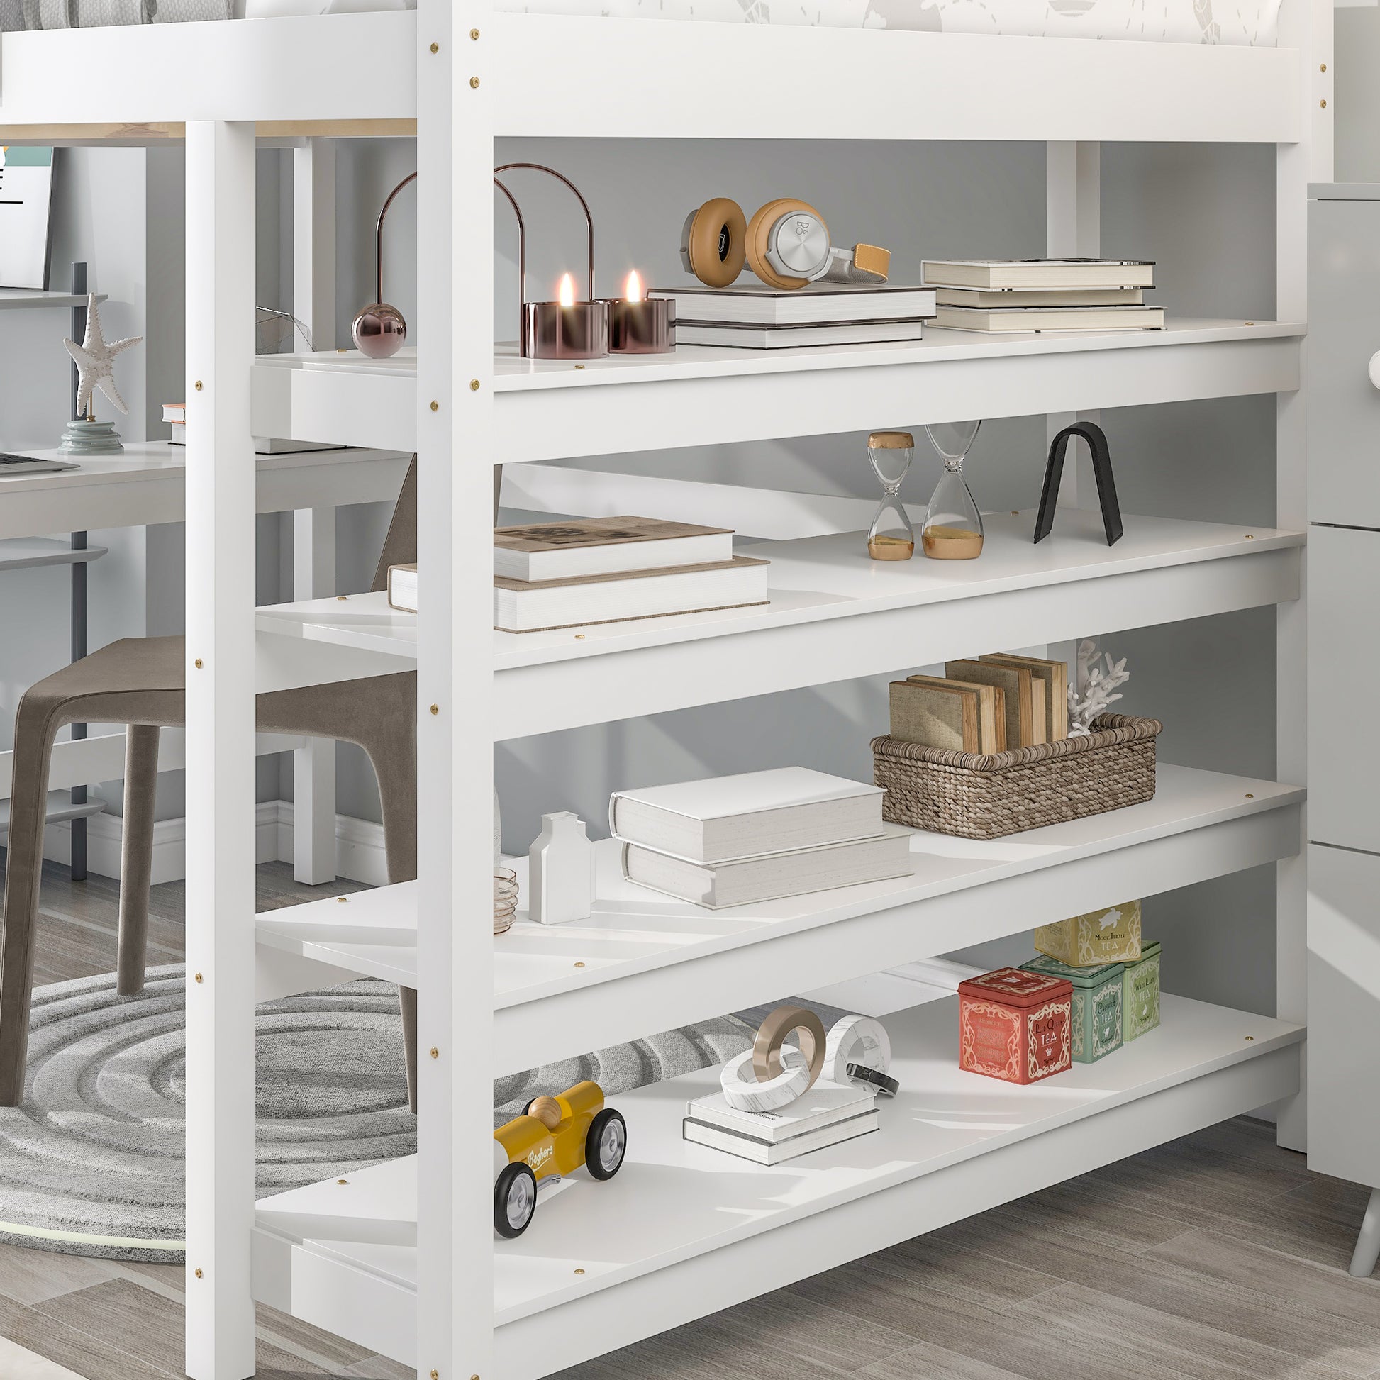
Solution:
M879 785L810 767L614 791L609 832L687 862L810 849L883 832Z

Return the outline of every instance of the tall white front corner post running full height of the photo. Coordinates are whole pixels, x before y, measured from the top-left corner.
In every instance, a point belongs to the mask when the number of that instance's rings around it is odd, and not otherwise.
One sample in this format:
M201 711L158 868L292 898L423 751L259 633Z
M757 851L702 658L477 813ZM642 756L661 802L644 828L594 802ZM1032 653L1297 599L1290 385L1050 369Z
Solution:
M417 12L418 1350L493 1362L493 167L487 0ZM435 1053L432 1053L435 1052Z

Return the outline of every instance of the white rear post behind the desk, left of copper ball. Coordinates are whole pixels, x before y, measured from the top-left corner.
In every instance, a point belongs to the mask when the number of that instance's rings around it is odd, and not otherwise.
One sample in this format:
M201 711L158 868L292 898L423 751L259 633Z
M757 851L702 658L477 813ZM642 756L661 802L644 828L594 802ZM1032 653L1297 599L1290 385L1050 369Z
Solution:
M293 315L317 349L335 345L335 142L293 150ZM287 519L286 519L287 520ZM291 515L293 598L335 593L335 509ZM293 876L335 880L335 744L312 738L293 753Z

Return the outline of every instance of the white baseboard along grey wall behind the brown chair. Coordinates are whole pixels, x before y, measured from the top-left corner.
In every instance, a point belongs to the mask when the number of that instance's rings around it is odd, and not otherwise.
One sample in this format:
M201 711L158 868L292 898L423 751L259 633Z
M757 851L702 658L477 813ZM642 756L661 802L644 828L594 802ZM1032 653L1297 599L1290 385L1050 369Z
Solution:
M87 820L87 871L119 878L123 827L117 814L94 814ZM291 800L265 800L255 807L254 853L259 862L293 861ZM70 821L48 825L43 856L51 862L72 861ZM386 885L384 827L348 814L335 816L335 872L366 886ZM153 883L181 882L185 876L186 820L159 820L153 825Z

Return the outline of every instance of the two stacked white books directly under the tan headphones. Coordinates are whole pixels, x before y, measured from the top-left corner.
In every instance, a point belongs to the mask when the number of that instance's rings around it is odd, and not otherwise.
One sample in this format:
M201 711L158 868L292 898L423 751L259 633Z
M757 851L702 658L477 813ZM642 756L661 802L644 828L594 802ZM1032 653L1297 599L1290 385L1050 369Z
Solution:
M934 316L930 287L811 284L795 290L742 287L656 288L676 304L676 342L738 349L798 345L882 345L918 341Z

